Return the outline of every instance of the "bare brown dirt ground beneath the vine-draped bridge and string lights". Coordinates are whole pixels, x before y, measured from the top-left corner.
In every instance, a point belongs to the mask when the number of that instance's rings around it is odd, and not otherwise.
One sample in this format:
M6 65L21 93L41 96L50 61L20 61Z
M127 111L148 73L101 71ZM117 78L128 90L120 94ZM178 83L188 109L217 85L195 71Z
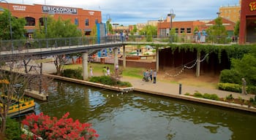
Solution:
M176 82L182 85L192 85L196 87L204 87L215 89L219 82L219 74L200 74L200 77L196 77L195 71L184 70L181 74L178 74L180 70L168 69L165 71L159 71L157 79L165 82Z

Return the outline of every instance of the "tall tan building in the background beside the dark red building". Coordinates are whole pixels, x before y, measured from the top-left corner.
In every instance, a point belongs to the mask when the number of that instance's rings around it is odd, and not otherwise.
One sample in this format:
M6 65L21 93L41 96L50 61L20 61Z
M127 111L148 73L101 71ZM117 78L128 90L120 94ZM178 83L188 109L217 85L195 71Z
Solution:
M222 18L226 18L227 20L231 20L234 23L240 20L241 13L241 0L239 4L236 5L227 5L219 7L219 16Z

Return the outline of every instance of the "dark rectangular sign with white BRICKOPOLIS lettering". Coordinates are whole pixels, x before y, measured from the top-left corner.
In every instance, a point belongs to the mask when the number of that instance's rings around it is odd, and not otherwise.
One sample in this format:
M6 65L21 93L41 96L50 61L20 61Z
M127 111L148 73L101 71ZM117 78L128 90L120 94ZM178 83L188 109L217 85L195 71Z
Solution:
M69 15L77 15L78 9L69 8L69 7L53 7L53 6L42 6L42 12L46 13L56 13L56 14L69 14Z

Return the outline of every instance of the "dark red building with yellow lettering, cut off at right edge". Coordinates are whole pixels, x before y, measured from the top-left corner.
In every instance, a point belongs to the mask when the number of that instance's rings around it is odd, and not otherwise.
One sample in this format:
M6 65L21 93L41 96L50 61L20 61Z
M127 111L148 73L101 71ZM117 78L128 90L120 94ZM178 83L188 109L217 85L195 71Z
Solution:
M239 28L239 43L256 42L256 1L241 1L241 23Z

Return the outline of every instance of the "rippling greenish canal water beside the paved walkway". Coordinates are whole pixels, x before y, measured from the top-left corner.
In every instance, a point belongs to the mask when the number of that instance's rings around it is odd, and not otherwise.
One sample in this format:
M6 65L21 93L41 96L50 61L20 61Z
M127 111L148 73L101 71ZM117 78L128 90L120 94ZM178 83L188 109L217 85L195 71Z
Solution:
M91 123L102 140L255 139L256 114L146 93L53 81L36 112Z

